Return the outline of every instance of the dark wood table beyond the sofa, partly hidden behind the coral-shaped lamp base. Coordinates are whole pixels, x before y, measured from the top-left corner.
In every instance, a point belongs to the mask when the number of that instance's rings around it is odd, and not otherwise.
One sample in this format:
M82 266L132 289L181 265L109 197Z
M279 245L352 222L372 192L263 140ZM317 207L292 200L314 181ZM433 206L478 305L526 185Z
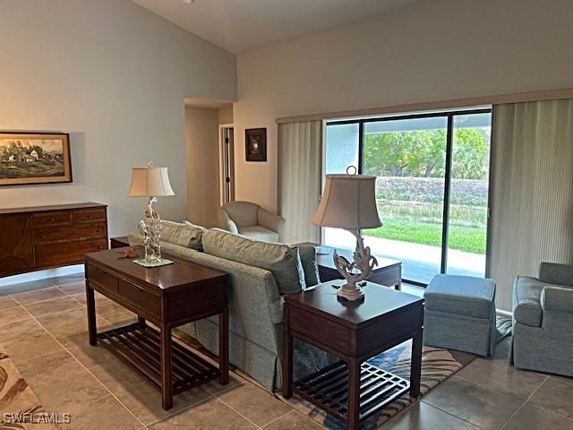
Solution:
M342 280L342 276L340 276L340 273L338 273L337 268L334 266L333 254L335 248L327 245L312 244L310 242L297 245L313 245L317 248L316 264L319 266L319 275L322 282ZM349 262L354 260L352 256L354 251L341 248L336 248L336 251L338 255L345 257ZM379 256L376 256L376 260L378 261L378 266L372 271L369 280L376 284L394 287L398 290L402 288L402 262Z

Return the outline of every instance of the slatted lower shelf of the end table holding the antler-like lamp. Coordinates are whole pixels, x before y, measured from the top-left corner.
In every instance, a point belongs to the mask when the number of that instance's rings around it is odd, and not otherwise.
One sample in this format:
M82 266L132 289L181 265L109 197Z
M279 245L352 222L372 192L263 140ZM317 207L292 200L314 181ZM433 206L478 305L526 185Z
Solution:
M410 383L369 363L360 373L359 420L370 417L402 394ZM339 361L293 384L293 391L304 400L343 421L348 419L348 365Z

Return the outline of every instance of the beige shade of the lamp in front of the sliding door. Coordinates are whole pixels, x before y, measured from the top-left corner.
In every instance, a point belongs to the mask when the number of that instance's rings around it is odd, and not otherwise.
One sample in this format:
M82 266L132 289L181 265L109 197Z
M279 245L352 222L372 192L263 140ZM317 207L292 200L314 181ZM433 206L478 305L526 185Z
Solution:
M375 185L376 176L327 175L312 222L321 227L348 230L380 227Z

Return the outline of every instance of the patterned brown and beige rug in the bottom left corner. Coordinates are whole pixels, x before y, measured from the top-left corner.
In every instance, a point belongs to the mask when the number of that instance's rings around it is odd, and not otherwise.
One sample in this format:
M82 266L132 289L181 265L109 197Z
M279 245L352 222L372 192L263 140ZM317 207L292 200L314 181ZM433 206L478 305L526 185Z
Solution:
M0 347L0 430L55 429L38 397Z

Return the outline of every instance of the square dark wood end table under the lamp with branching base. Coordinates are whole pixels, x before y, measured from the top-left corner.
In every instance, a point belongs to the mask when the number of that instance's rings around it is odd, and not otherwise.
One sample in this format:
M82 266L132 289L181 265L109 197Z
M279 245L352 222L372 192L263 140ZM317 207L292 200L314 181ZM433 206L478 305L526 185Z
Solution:
M293 392L357 429L361 420L410 391L420 395L423 298L368 282L364 300L338 299L333 285L285 297L283 395ZM293 382L293 338L343 361ZM410 380L365 363L368 358L412 340Z

